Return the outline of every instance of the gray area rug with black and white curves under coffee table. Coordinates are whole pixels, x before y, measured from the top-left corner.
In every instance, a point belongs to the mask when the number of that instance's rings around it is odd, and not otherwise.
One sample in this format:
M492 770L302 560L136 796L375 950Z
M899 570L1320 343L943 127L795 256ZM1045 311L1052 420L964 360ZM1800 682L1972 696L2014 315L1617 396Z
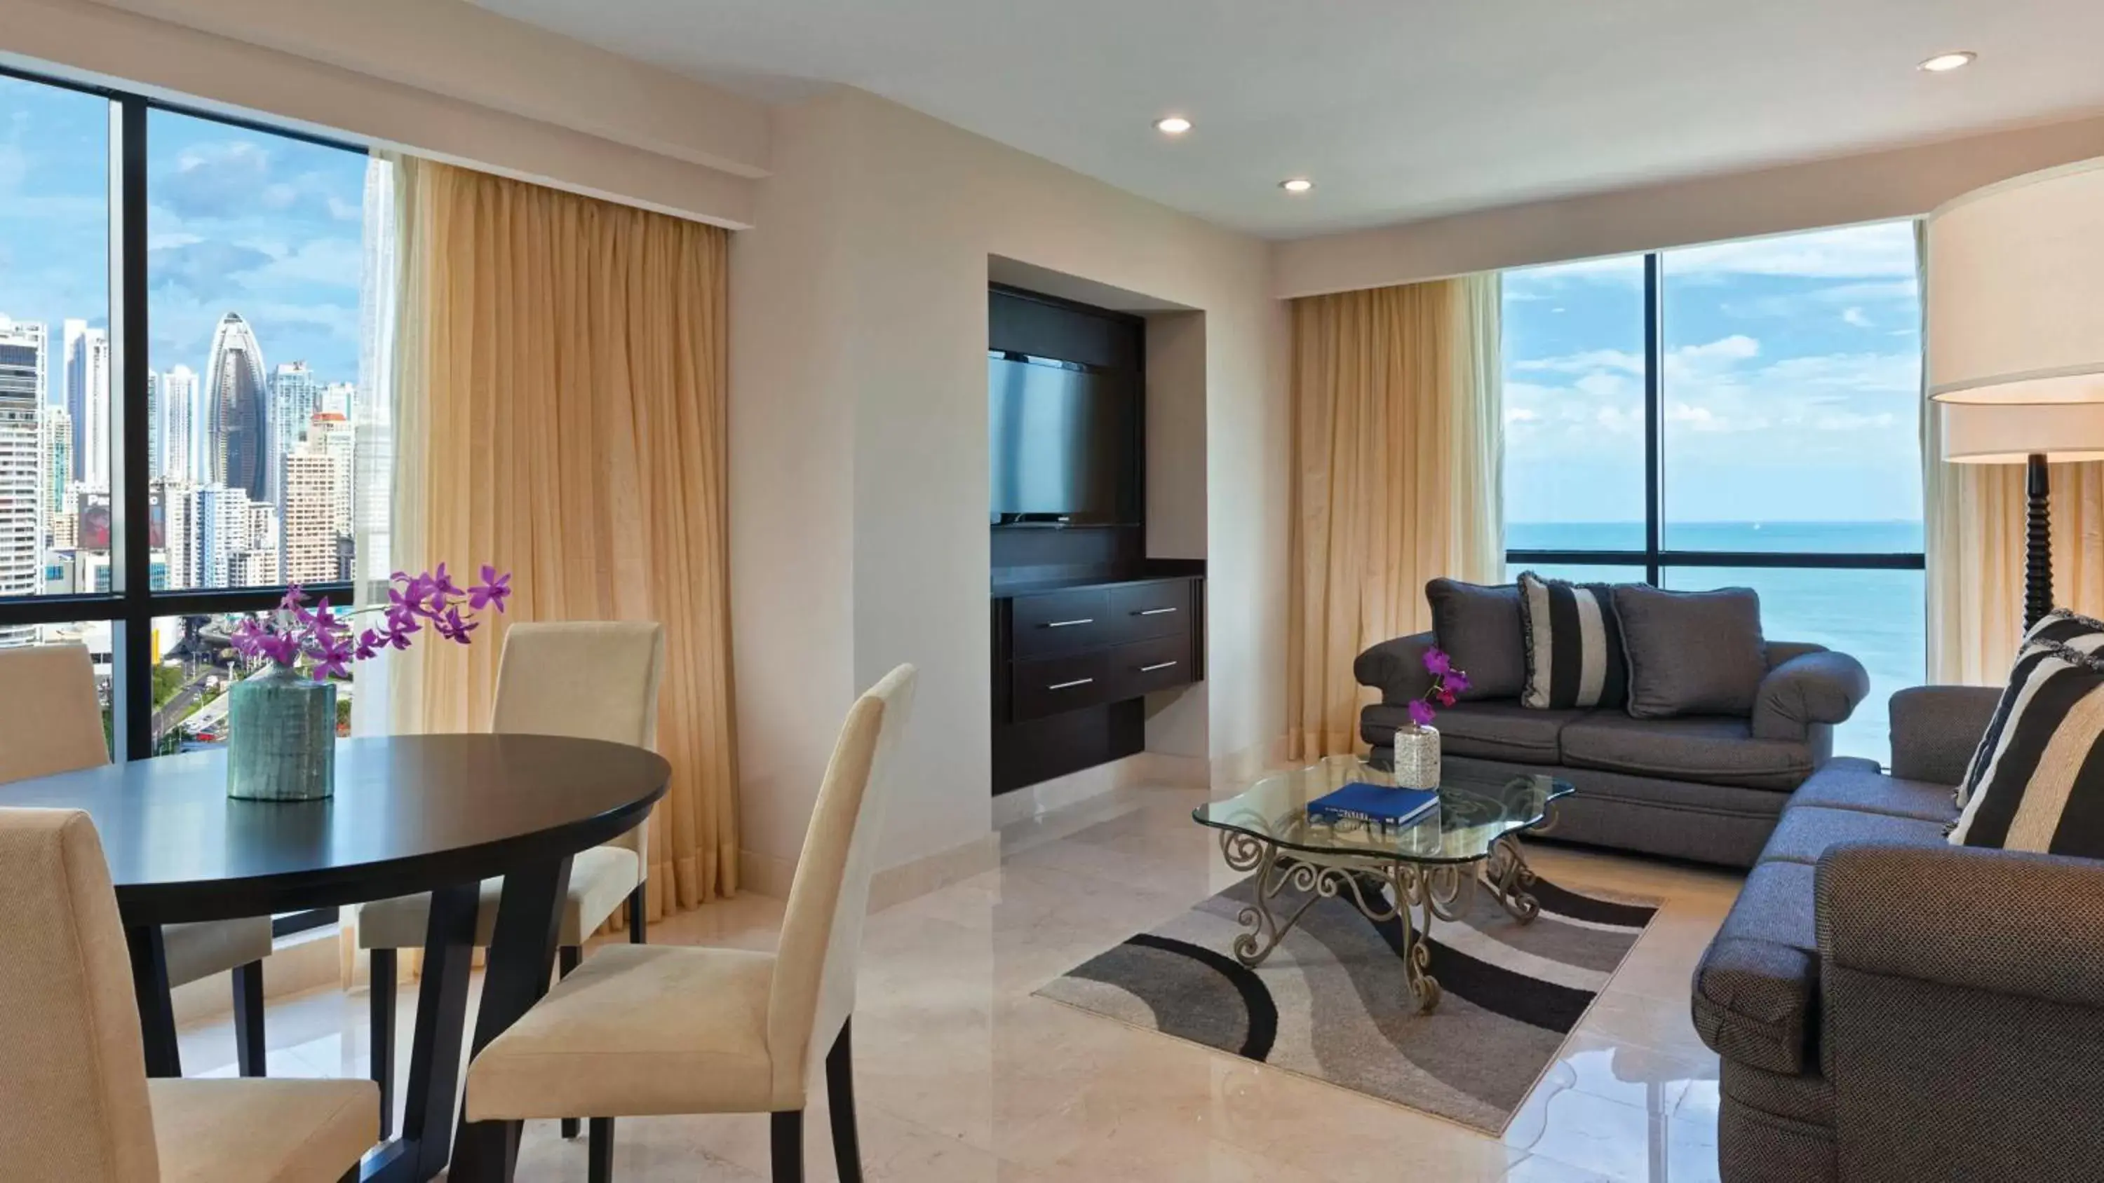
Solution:
M1519 925L1490 891L1435 920L1445 998L1418 1013L1401 929L1321 899L1256 969L1229 950L1254 878L1071 969L1039 996L1502 1135L1658 914L1656 899L1534 887ZM1279 904L1290 904L1279 899Z

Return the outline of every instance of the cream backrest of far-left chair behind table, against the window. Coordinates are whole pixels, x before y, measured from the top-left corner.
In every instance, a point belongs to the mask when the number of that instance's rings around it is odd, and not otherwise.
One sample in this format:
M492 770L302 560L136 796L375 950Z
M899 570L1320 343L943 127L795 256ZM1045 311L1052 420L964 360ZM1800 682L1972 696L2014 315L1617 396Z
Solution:
M109 763L82 645L0 649L0 784Z

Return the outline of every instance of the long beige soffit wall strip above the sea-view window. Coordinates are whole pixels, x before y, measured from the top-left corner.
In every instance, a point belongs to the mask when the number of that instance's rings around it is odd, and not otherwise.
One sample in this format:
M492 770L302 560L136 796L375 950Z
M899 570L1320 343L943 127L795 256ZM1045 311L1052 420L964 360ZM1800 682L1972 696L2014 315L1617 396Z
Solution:
M1273 246L1273 290L1313 296L1906 219L1980 185L2093 155L2104 155L2104 118L1304 237Z

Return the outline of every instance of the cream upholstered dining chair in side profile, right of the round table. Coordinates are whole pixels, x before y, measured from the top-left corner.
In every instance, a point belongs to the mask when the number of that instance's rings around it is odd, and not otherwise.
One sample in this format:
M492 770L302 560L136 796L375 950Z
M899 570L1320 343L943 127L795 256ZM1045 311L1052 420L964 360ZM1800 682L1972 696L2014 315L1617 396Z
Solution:
M612 1118L772 1114L774 1179L800 1181L808 1078L825 1059L833 1160L842 1183L861 1183L848 1019L886 769L911 702L913 666L898 666L848 710L774 952L600 950L476 1055L463 1151L478 1168L511 1160L524 1118L589 1114L591 1183L606 1183Z

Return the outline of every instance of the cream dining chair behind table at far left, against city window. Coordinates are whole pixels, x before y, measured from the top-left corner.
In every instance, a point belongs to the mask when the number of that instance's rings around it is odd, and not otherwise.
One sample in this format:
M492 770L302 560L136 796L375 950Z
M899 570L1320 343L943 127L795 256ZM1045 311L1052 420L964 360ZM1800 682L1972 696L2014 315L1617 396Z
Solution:
M80 645L0 651L0 784L109 763L95 664ZM263 1076L263 958L269 916L168 925L168 985L234 973L234 1053L242 1076Z

